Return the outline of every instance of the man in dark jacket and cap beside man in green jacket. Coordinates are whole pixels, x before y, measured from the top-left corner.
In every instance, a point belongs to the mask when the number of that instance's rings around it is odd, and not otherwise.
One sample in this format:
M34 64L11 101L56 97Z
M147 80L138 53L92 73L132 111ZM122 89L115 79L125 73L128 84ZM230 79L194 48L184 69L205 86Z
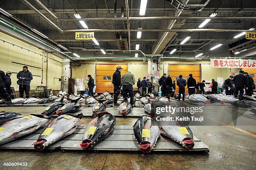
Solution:
M114 105L115 106L118 106L117 101L121 91L121 71L122 71L122 67L117 66L112 79L112 83L114 84Z

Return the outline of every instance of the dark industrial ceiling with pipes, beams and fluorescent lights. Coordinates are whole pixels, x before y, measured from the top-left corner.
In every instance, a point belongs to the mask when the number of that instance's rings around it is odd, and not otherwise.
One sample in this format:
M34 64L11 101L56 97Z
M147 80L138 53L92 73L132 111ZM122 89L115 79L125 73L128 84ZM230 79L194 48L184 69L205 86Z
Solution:
M145 15L140 15L145 3ZM75 60L256 58L256 40L243 34L255 32L254 0L8 0L0 8L2 21L45 39L59 49L54 52ZM79 31L95 32L99 45L75 40Z

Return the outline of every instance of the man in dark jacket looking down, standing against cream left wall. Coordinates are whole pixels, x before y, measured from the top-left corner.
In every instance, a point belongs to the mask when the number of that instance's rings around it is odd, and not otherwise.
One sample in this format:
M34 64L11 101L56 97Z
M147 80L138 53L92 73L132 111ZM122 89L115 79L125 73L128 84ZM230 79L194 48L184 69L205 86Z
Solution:
M17 74L17 84L19 85L20 97L23 98L24 91L26 98L29 98L30 83L33 79L32 73L28 70L27 66L23 66L22 71Z

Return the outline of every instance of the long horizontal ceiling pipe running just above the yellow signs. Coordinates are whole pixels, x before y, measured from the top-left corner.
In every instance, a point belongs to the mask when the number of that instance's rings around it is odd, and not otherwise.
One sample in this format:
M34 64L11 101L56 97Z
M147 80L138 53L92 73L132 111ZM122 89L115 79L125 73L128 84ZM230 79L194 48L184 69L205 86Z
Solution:
M128 32L128 29L74 29L74 30L62 30L63 33L70 33L70 32L79 32L79 31L87 31L87 32ZM129 30L130 32L137 32L138 30ZM209 28L209 29L148 29L148 30L140 30L141 32L254 32L256 30L233 30L233 29L216 29L216 28Z

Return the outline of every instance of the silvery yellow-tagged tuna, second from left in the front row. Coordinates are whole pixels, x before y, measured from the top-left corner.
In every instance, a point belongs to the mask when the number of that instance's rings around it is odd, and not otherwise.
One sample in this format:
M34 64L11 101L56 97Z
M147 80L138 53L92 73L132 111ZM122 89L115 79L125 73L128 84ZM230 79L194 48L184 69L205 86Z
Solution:
M45 147L73 134L80 124L79 118L68 114L57 117L44 128L37 141L33 143L34 149L37 151L44 150Z

